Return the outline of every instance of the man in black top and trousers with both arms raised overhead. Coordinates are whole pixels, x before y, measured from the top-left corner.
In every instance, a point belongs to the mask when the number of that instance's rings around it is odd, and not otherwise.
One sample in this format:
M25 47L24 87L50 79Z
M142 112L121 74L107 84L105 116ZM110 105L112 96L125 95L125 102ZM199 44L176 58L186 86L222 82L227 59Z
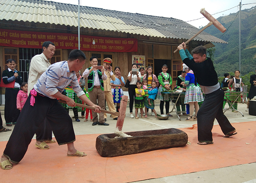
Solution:
M230 137L237 134L236 130L227 117L223 114L223 98L224 91L218 83L218 75L214 69L211 58L206 57L206 47L197 46L192 50L192 55L186 49L186 44L183 42L178 46L180 56L195 75L195 80L200 85L205 94L205 100L197 113L197 132L199 145L213 144L213 128L214 119L218 121L223 137Z

